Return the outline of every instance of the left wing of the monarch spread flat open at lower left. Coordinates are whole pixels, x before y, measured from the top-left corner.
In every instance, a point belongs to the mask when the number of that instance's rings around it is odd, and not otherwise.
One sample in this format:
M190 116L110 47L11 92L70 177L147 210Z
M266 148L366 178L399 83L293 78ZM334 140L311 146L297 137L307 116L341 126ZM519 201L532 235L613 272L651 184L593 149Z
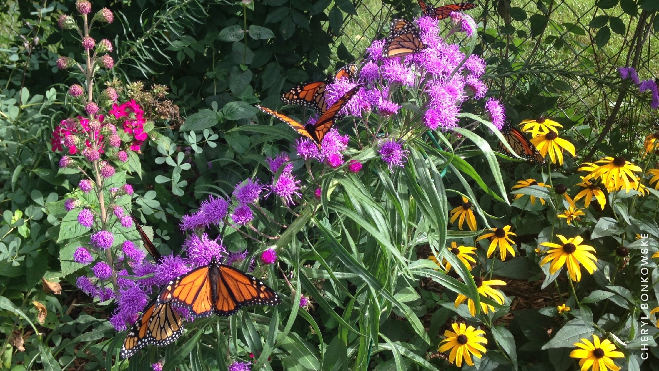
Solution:
M210 316L213 303L208 265L192 269L169 281L156 301L158 304L171 302L173 306L186 308L194 318Z

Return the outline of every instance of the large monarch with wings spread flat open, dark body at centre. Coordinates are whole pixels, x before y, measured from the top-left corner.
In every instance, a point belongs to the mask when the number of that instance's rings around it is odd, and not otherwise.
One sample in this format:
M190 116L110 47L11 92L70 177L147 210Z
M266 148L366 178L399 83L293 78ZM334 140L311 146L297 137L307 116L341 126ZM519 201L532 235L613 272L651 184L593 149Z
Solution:
M192 269L167 283L156 303L171 302L190 310L193 318L231 316L243 306L281 303L272 288L229 265L217 263L212 257L208 265Z

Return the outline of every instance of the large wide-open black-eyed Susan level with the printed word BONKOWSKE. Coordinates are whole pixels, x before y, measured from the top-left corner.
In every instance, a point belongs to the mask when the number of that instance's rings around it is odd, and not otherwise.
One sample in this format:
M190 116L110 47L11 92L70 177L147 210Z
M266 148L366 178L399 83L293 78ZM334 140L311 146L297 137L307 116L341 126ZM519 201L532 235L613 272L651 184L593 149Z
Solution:
M592 273L597 269L595 262L597 258L591 252L595 249L592 246L582 245L583 238L576 236L573 238L565 238L560 234L556 235L561 240L562 245L554 244L553 242L542 242L540 246L547 246L550 248L546 257L540 261L540 265L552 262L549 267L549 273L552 275L556 273L563 265L567 265L567 273L572 281L581 281L581 264L586 268L588 273Z

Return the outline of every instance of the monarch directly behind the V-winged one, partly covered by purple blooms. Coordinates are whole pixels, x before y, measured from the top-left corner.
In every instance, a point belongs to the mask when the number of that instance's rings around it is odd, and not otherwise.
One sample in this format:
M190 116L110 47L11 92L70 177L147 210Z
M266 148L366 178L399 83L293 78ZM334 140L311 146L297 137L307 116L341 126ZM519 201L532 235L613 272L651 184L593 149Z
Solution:
M357 65L350 63L339 69L333 77L328 76L323 81L312 81L311 83L295 86L295 88L281 94L281 101L285 104L299 104L300 106L312 107L316 110L316 113L322 115L328 108L325 103L325 88L327 85L343 77L347 77L349 81L353 81L356 72Z

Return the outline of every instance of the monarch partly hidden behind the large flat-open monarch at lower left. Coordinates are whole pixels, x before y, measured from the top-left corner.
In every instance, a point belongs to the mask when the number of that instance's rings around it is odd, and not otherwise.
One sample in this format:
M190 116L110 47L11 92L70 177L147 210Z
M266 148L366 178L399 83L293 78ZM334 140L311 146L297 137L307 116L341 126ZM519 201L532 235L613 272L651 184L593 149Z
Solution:
M161 263L162 254L156 250L156 246L146 236L136 217L132 214L130 214L130 217L132 217L137 231L142 237L146 250L154 257L156 262ZM119 355L122 358L129 358L150 344L156 345L156 347L164 347L178 339L183 333L182 329L183 321L181 316L172 308L171 304L163 303L158 305L154 298L130 327Z

